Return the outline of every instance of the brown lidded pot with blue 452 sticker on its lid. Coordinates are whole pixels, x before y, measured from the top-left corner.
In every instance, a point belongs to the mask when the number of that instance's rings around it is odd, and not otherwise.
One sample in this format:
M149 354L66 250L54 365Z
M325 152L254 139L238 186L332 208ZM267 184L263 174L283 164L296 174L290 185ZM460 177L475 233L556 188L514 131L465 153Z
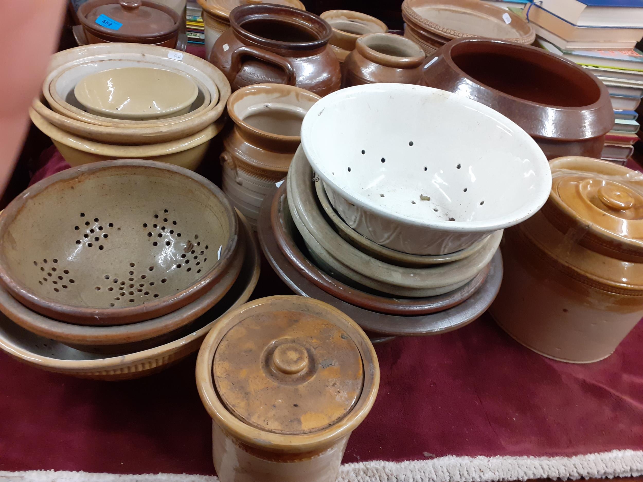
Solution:
M77 13L90 44L131 42L175 48L183 19L173 8L147 0L89 0Z

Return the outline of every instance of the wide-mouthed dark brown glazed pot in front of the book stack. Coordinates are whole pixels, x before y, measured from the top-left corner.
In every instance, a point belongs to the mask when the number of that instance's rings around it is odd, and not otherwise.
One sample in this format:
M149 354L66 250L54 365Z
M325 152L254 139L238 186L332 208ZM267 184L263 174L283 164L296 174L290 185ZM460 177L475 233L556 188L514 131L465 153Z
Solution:
M601 157L614 125L610 94L573 62L500 40L453 40L424 67L422 85L467 96L520 125L548 159Z

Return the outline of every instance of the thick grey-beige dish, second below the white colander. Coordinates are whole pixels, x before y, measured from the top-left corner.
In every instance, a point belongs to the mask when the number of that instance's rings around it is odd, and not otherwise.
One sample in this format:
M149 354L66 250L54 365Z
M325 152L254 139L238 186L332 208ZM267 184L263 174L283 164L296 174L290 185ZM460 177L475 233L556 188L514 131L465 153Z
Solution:
M398 296L444 294L470 281L498 249L502 231L491 235L487 244L476 253L448 264L407 268L372 258L345 241L325 220L314 193L311 166L301 154L300 150L293 159L287 179L293 220L311 254L319 256L349 280Z

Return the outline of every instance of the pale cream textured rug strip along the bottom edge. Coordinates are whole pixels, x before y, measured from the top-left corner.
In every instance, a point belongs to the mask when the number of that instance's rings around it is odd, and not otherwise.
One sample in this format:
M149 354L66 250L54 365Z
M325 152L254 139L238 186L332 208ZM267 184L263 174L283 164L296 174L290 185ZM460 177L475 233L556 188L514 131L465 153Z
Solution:
M494 482L526 479L612 478L643 475L643 451L574 457L440 457L406 462L371 461L341 467L338 482ZM0 482L216 482L185 474L117 475L30 470L3 472Z

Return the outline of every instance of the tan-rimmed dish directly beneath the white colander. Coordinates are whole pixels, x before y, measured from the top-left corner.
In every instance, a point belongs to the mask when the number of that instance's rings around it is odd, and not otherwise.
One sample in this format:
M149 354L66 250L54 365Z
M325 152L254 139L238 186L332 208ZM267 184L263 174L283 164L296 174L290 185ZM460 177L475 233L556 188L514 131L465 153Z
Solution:
M391 263L398 266L406 266L410 268L417 267L426 267L435 264L444 264L451 263L454 261L462 260L471 256L472 254L478 252L489 240L488 237L482 238L475 244L461 249L460 251L455 251L455 253L448 254L436 254L434 256L421 254L408 254L402 253L401 251L394 251L386 246L377 244L376 242L371 241L368 238L363 237L354 229L350 228L346 222L340 218L340 216L335 212L331 206L331 201L328 199L326 190L323 187L318 177L315 178L315 191L317 193L317 199L320 201L321 208L323 208L325 217L331 220L338 234L347 240L354 247L358 248L359 251L362 251L377 260L383 261L385 263ZM224 190L225 192L225 190Z

